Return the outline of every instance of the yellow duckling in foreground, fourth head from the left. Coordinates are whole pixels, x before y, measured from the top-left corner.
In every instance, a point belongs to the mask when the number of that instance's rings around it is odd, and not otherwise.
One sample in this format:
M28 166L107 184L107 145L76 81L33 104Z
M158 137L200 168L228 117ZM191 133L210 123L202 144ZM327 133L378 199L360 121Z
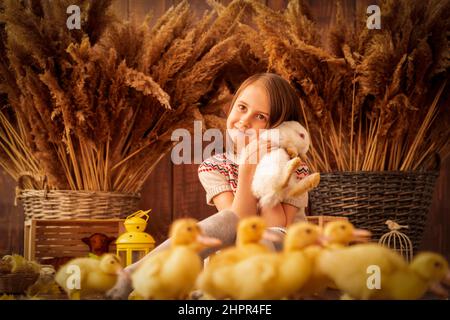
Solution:
M281 253L251 256L230 266L223 283L229 297L238 300L282 299L297 292L309 278L312 263L303 250L320 242L320 229L306 222L290 226Z

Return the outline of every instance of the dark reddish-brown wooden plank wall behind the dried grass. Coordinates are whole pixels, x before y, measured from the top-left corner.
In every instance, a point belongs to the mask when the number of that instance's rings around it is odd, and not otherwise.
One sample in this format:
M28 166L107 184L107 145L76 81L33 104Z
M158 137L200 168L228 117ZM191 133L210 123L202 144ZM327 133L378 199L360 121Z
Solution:
M163 14L171 5L180 0L116 0L114 9L123 19L135 18L142 21L151 10L151 22ZM231 0L221 0L227 4ZM287 0L261 0L273 9L286 7ZM334 0L309 0L312 14L323 29L333 22L336 6ZM355 21L355 13L360 12L374 0L342 0L344 17ZM197 13L207 9L205 0L190 0ZM326 41L326 39L324 39ZM214 207L205 203L205 192L197 178L198 165L173 165L170 154L156 166L142 190L141 208L152 208L149 232L157 242L166 238L170 222L178 217L192 216L204 218L215 212ZM429 213L424 235L423 249L435 250L450 257L450 159L443 164ZM14 204L15 183L4 172L0 172L0 254L23 250L23 212Z

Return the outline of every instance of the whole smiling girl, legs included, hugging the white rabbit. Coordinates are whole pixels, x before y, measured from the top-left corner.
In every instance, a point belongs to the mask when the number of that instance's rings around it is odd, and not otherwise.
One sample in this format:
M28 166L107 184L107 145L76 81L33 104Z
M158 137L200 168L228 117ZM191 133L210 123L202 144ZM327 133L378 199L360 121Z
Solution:
M300 105L294 89L280 76L273 73L256 74L239 87L231 102L227 117L227 130L236 147L234 152L215 155L205 160L198 169L200 182L206 190L206 201L216 206L218 213L202 220L199 225L204 234L218 238L223 246L232 245L240 218L260 215L268 227L284 233L284 228L294 221L305 220L308 196L287 198L273 208L258 208L252 194L251 183L257 163L270 152L270 141L259 141L259 130L275 128L284 121L299 121ZM238 143L238 139L244 143ZM239 164L236 163L239 155ZM256 161L252 161L255 160ZM295 172L298 179L308 175L305 164ZM170 239L155 248L149 255L167 249ZM274 248L277 248L273 245ZM219 248L206 249L201 253L206 258ZM128 266L119 277L116 286L109 292L114 299L126 299L131 292L129 274L144 260Z

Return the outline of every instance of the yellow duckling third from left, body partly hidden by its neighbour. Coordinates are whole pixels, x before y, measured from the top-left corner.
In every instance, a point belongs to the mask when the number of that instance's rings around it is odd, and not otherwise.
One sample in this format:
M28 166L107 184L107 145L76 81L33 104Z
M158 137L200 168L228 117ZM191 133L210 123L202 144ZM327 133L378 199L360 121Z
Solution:
M221 283L228 279L227 267L253 255L269 252L270 250L260 243L262 238L280 240L266 232L266 223L261 217L242 219L238 224L236 246L210 257L197 280L196 287L216 299L228 297L226 290L221 289L223 288Z

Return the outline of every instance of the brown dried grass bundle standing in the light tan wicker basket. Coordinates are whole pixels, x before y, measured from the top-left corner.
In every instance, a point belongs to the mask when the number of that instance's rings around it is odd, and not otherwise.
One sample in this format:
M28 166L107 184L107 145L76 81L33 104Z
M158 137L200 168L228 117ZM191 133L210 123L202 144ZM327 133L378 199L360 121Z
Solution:
M97 25L93 17L109 1L95 8L78 1L87 8L83 21L92 23L75 34L55 27L67 3L49 3L6 1L0 92L8 95L23 125L20 139L51 188L138 192L173 146L173 130L193 129L194 120L204 128L223 125L222 109L235 89L227 67L246 72L245 61L236 62L243 1L200 19L183 1L153 27L109 14Z

